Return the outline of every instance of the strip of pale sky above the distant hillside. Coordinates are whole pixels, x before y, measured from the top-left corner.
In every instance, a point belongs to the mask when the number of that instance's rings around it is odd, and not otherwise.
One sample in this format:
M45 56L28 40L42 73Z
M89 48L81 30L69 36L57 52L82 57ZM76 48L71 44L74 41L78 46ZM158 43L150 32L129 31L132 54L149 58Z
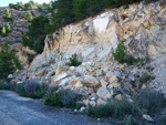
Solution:
M0 7L7 7L9 6L9 3L17 3L17 2L22 2L22 3L25 3L25 2L29 2L30 0L0 0ZM51 0L33 0L34 2L38 2L38 3L49 3Z

